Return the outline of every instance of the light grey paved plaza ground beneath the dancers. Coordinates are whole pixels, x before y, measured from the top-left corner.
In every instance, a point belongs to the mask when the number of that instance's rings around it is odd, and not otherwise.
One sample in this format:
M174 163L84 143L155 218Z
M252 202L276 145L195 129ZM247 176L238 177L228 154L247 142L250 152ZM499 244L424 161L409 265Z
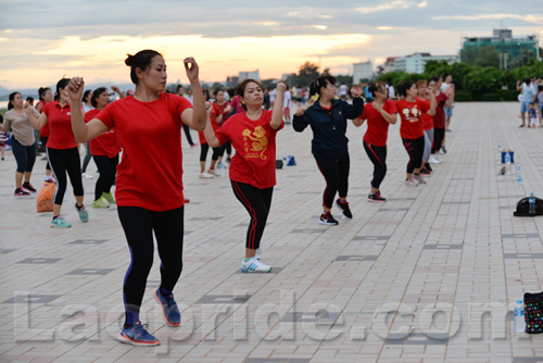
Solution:
M386 203L366 200L366 126L350 125L354 217L339 226L317 223L325 183L311 129L287 125L278 158L294 155L298 165L277 171L262 242L269 274L240 273L249 216L227 177L199 178L200 148L184 137L190 203L174 291L182 323L167 326L154 301L155 252L142 306L142 322L162 340L153 348L116 340L129 251L116 208L90 208L97 178L84 180L89 223L78 221L68 187L62 212L73 226L50 228L52 213L36 213L35 196L13 197L8 151L0 162L0 362L543 362L543 335L513 329L515 301L543 290L543 216L513 216L521 196L543 197L543 128L518 128L518 114L516 102L457 103L449 153L418 187L403 184L407 153L400 125L391 126ZM498 143L515 151L522 189L516 175L497 175ZM45 177L39 159L35 187ZM94 171L91 162L87 173Z

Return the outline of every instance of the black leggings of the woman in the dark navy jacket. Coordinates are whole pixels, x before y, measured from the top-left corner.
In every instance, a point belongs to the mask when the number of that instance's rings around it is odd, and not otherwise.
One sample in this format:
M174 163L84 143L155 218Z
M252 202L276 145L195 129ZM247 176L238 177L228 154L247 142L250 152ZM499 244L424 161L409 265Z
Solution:
M338 192L340 197L346 197L351 160L349 159L349 154L346 154L340 159L315 158L315 161L326 180L323 205L331 209L336 192Z

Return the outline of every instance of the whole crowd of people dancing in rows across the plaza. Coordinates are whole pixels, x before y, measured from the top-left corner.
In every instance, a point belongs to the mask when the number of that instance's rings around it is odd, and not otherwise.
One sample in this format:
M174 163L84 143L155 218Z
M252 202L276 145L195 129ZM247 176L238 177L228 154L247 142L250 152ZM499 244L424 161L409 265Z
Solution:
M391 126L399 121L397 132L407 155L405 180L402 180L406 187L426 184L426 176L433 172L432 165L441 163L441 153L446 152L445 130L451 125L455 98L451 75L405 82L395 88L380 82L368 85L367 89L337 87L336 78L326 75L307 88L289 89L278 83L269 89L256 79L244 79L235 90L204 90L198 63L187 58L184 64L190 87L178 86L176 92L168 92L166 62L161 53L142 50L128 55L125 64L130 67L130 79L136 86L132 95L125 96L112 87L118 100L111 101L106 87L85 90L83 77L62 78L54 95L49 88L39 89L36 109L24 102L20 92L13 92L10 110L0 126L3 132L0 145L11 132L17 163L14 192L17 197L37 191L30 177L37 154L36 130L39 130L50 171L46 172L46 182L56 186L52 227L72 226L61 215L68 178L79 218L89 222L83 177L86 165L93 159L99 177L92 208L116 204L130 250L123 284L125 323L118 336L122 342L160 343L139 317L153 264L153 235L161 259L161 285L154 297L166 323L174 327L180 324L173 291L182 271L187 201L181 134L191 148L200 145L202 179L220 175L218 168L224 163L230 164L233 196L250 218L241 259L243 273L267 273L273 268L262 261L261 245L276 185L276 136L285 125L292 123L298 133L311 127L312 154L326 183L317 222L327 226L339 224L332 215L334 204L344 217L353 218L348 201L349 123L357 127L367 124L361 143L374 165L372 175L367 178L370 202L387 201L386 192L381 192L387 176L387 142ZM528 86L520 88L526 97L532 92ZM539 96L530 97L533 102ZM292 102L298 104L291 115ZM198 142L192 139L191 129L199 133ZM90 155L83 164L79 145L87 146ZM213 153L207 167L210 148Z

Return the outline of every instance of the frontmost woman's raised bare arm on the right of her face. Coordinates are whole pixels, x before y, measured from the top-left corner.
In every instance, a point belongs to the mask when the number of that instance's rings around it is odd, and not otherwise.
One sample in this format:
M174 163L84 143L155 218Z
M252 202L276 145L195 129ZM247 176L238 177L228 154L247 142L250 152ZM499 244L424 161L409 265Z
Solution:
M187 109L182 112L181 122L189 125L193 129L201 132L205 128L206 111L202 86L200 85L200 79L198 78L198 63L192 57L189 57L184 60L184 64L187 77L190 80L190 87L192 88L193 109Z

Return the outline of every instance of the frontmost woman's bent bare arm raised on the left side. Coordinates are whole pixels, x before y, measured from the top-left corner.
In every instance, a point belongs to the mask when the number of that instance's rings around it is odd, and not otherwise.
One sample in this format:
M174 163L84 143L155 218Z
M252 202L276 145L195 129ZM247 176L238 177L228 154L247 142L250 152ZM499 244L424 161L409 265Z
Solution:
M87 142L108 132L108 126L98 118L85 123L81 110L81 96L85 80L81 77L73 77L67 85L70 96L70 109L72 112L72 130L77 142ZM43 115L43 114L41 114ZM41 116L40 116L41 117Z

